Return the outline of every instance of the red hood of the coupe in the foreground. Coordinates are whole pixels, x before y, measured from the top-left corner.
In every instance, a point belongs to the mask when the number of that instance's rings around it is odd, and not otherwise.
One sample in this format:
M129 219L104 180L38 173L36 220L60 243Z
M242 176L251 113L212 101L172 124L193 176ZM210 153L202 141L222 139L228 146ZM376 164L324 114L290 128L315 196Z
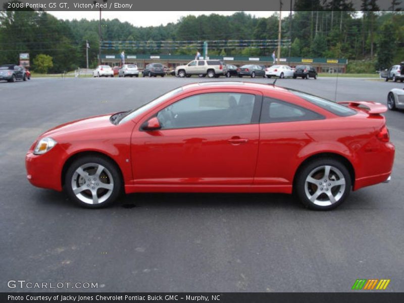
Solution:
M110 117L113 114L102 115L84 118L80 120L75 120L72 122L61 124L57 127L49 129L44 132L40 137L52 137L56 138L61 135L71 134L71 133L81 133L93 130L102 130L106 128L116 127L116 125L112 124L110 121Z

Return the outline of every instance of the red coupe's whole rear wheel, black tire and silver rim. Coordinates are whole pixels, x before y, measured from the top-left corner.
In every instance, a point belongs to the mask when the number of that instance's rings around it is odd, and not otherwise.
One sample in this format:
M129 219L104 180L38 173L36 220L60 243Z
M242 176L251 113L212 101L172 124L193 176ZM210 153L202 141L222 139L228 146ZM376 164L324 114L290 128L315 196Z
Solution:
M325 175L329 167L328 176ZM311 177L311 178L309 178ZM312 179L316 182L307 181ZM342 185L332 185L341 182ZM309 209L328 211L343 203L351 189L351 177L345 165L333 158L321 158L307 163L299 170L294 190L301 203ZM312 201L310 198L312 197ZM334 199L331 200L330 196Z

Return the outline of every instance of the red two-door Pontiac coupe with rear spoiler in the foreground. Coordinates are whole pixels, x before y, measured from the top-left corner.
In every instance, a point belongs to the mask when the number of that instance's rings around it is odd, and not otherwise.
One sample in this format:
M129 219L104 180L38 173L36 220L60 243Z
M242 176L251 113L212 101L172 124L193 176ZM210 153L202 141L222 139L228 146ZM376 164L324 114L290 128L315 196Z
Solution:
M384 105L273 85L203 82L137 109L60 125L26 155L35 186L88 208L131 192L296 193L330 210L390 180Z

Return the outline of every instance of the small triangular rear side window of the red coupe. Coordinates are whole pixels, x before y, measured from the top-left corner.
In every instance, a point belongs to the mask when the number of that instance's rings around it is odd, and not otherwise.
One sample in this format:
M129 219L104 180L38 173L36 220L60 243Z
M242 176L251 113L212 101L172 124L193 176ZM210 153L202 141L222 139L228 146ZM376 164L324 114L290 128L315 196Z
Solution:
M260 123L320 120L324 116L281 100L264 98Z

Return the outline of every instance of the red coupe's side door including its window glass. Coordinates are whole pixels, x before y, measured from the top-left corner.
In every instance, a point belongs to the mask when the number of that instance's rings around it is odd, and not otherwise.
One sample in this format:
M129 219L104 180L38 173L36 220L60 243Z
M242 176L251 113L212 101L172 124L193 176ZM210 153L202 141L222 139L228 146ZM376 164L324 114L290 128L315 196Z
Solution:
M194 93L144 118L157 117L161 129L132 133L134 184L251 184L261 99L251 91Z

